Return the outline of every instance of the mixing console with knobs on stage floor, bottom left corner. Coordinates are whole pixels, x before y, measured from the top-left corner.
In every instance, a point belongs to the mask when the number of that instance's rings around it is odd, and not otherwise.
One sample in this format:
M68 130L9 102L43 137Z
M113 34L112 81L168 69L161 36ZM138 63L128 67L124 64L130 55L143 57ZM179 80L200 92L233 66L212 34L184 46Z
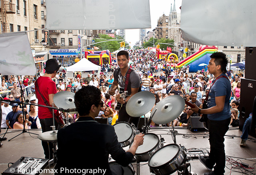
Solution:
M40 169L47 166L48 159L21 157L11 167L2 172L2 175L39 175Z

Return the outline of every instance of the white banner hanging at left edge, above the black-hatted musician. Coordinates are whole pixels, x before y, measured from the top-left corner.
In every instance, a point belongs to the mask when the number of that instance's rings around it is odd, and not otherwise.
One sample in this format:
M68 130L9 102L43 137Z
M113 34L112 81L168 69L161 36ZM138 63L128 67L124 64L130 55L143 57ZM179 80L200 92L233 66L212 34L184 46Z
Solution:
M35 61L26 32L0 34L0 73L35 75Z

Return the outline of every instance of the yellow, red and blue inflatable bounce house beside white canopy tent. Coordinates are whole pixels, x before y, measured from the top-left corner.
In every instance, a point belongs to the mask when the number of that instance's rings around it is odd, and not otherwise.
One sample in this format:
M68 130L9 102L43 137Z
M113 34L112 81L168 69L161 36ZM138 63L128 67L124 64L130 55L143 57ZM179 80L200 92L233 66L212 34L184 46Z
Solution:
M96 65L108 63L111 64L111 53L109 50L104 51L84 51L84 57Z

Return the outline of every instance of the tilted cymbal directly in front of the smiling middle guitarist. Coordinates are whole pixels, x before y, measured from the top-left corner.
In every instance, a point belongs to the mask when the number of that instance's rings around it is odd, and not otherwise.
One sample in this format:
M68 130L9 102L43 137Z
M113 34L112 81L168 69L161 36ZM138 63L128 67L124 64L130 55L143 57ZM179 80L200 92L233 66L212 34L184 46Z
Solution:
M149 91L134 94L126 104L126 112L132 117L140 117L148 113L156 102L155 96Z

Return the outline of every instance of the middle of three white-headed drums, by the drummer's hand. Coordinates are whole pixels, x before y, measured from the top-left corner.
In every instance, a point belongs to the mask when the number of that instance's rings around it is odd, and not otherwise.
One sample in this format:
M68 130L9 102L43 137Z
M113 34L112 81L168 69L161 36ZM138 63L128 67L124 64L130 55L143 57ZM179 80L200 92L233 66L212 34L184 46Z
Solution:
M140 145L135 153L137 161L146 162L150 156L163 146L163 143L160 142L159 137L154 133L145 134L143 137L143 144Z

